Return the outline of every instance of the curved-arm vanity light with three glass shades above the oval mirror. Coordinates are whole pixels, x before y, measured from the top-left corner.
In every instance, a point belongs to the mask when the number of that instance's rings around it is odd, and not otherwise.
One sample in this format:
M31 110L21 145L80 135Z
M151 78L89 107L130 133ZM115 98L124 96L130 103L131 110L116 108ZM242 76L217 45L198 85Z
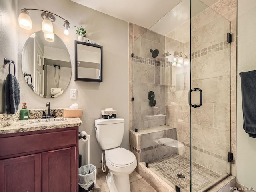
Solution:
M29 16L29 12L28 10L38 10L38 11L42 11L41 17L43 18L43 22L42 22L42 30L45 34L52 34L54 36L53 33L53 25L52 22L55 21L55 16L58 16L57 14L48 12L48 11L44 11L44 10L40 10L40 9L26 9L23 8L21 10L21 13L19 15L19 25L21 28L30 30L32 29L32 21L31 18ZM64 20L64 34L68 35L68 28L70 28L69 22L68 20L62 18L61 16L58 16L59 18Z

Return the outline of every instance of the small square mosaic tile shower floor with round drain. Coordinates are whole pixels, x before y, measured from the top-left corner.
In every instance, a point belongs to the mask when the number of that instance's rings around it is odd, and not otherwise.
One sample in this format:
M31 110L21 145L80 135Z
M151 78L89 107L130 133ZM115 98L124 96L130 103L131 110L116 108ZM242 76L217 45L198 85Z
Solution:
M149 168L171 186L174 184L180 187L181 192L190 191L190 161L188 159L173 154L150 163ZM178 178L177 174L182 174L185 178ZM192 162L192 191L200 191L220 176L220 174Z

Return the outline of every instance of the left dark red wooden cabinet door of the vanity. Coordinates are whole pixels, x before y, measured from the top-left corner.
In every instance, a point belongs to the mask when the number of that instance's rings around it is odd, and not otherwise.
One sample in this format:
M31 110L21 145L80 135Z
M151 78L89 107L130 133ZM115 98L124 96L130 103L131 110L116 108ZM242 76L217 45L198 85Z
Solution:
M1 192L41 192L41 154L0 160Z

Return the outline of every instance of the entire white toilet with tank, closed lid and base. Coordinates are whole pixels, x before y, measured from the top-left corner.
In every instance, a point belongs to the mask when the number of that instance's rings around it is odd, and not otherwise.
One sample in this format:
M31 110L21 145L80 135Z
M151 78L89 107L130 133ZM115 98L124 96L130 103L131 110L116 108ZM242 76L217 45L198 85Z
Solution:
M137 160L131 151L119 147L124 136L124 119L96 119L95 132L100 148L105 150L110 192L130 192L129 174L136 168Z

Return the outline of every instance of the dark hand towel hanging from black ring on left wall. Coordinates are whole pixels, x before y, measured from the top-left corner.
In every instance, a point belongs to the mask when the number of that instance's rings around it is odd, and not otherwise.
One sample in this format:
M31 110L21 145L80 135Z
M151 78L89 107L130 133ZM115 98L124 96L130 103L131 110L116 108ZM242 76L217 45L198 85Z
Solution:
M18 111L20 104L20 85L12 74L8 74L5 82L6 113L14 114Z

